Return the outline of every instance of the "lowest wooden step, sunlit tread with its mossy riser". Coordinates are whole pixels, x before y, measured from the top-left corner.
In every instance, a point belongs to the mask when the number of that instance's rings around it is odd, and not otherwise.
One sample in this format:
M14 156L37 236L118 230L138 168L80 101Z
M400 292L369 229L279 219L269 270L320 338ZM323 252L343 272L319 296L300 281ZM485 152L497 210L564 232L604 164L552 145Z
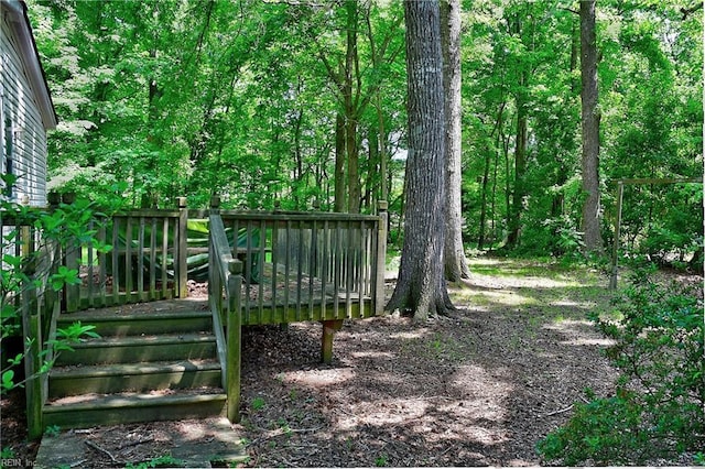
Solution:
M202 393L83 395L48 402L44 406L44 425L87 428L138 422L175 421L223 416L226 394L204 390Z

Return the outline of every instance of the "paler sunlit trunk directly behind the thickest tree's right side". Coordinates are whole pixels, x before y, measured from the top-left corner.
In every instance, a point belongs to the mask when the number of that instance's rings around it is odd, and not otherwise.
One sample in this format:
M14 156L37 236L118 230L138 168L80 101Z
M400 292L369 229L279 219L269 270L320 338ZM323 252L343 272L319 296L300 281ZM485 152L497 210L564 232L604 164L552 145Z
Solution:
M462 128L460 128L460 1L441 0L443 88L445 94L445 277L468 279L470 270L463 247Z

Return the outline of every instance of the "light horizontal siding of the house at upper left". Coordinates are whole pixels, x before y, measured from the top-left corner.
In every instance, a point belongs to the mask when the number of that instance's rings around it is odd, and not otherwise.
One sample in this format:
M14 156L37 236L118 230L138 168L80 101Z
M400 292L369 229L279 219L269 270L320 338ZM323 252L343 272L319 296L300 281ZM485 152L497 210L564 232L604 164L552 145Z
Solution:
M11 170L18 176L13 200L29 198L32 206L45 206L46 130L37 90L32 87L24 63L28 57L22 57L13 33L11 21L18 20L7 11L0 13L0 172L7 174Z

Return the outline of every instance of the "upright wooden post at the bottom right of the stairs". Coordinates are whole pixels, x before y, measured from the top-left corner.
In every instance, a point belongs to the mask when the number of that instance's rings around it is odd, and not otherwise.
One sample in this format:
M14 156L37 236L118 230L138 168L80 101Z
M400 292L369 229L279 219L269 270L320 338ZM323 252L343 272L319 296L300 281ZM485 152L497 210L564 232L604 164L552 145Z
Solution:
M227 386L228 403L227 416L232 423L240 422L240 368L241 368L241 350L242 350L242 309L241 309L241 291L242 291L242 262L232 259L228 262L230 275L228 279L228 297L229 304L227 308Z

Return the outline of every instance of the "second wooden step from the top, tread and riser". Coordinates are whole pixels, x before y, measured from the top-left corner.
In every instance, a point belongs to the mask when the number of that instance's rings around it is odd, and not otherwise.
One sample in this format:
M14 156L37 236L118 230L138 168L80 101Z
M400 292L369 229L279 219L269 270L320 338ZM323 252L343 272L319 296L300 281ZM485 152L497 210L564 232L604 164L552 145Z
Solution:
M215 336L170 334L90 339L63 351L56 366L140 363L165 360L196 360L216 357Z

